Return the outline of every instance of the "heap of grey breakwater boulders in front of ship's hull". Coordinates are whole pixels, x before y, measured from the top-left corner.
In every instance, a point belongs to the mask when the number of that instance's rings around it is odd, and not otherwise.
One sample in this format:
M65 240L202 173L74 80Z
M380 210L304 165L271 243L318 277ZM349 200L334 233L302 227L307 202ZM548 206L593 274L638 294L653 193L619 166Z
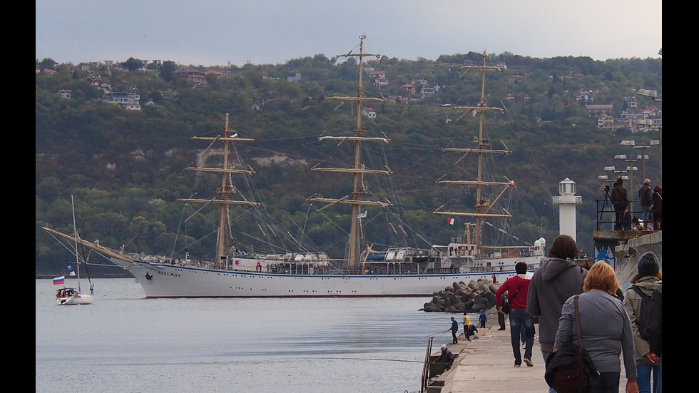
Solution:
M480 312L495 307L495 292L500 283L479 278L468 284L454 282L450 287L432 294L432 300L425 303L424 312Z

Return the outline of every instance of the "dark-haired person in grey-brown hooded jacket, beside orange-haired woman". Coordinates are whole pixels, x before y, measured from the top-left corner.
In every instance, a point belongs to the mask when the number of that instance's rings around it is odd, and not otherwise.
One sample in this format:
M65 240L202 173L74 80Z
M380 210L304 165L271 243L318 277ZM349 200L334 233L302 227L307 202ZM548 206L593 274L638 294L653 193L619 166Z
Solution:
M539 344L544 361L553 352L563 303L568 297L583 292L583 280L588 271L573 262L577 256L575 240L569 235L558 235L549 248L549 260L531 276L526 310L539 317ZM556 391L549 389L549 392Z

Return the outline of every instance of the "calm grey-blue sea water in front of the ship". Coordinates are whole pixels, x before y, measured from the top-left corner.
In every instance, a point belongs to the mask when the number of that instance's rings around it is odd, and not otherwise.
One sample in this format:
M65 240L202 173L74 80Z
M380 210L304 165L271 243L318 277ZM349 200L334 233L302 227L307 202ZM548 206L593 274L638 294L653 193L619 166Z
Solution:
M92 305L58 306L36 280L36 392L418 392L428 337L436 352L461 320L419 311L429 297L146 299L133 278L93 282Z

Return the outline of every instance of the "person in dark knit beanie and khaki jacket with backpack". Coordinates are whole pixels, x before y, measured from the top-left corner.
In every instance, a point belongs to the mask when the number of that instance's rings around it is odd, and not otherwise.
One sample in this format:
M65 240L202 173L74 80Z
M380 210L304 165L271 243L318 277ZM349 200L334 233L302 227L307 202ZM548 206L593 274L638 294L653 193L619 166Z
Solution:
M626 290L624 305L631 319L633 329L633 346L636 348L636 373L638 374L638 392L656 393L658 387L658 373L660 364L650 356L650 344L648 343L648 311L650 305L643 306L643 298L653 295L653 290L662 282L663 275L660 272L658 258L652 251L641 255L638 260L638 274L631 278L631 287ZM658 359L659 360L659 359ZM653 389L651 391L650 385Z

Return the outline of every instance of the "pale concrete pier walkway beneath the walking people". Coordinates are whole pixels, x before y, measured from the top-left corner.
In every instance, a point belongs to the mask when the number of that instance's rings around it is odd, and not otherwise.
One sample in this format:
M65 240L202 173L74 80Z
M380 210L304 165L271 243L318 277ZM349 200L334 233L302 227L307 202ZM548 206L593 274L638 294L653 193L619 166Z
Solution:
M549 385L544 379L544 359L541 357L539 340L534 340L531 362L534 367L514 367L514 354L510 341L509 320L505 322L505 330L498 330L498 317L495 308L487 312L488 324L484 329L479 328L479 338L471 342L464 340L464 334L459 335L458 344L448 344L434 340L439 354L439 347L447 344L451 352L458 354L451 369L430 379L426 393L547 393ZM477 326L477 325L476 325ZM539 325L536 332L539 332ZM535 336L537 337L537 336ZM451 342L451 336L442 338ZM524 357L524 348L521 349ZM621 359L619 360L621 362ZM621 363L620 363L621 364ZM621 364L621 380L619 393L626 392L626 374Z

